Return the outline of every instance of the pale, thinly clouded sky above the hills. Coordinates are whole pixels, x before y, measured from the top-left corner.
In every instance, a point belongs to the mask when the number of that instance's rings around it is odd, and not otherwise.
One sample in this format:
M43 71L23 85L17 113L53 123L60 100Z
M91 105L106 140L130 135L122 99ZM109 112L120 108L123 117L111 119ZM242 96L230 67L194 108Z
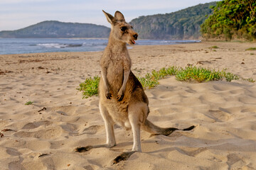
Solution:
M139 16L171 13L213 0L0 0L0 31L42 21L95 23L110 27L102 9L121 11L127 22Z

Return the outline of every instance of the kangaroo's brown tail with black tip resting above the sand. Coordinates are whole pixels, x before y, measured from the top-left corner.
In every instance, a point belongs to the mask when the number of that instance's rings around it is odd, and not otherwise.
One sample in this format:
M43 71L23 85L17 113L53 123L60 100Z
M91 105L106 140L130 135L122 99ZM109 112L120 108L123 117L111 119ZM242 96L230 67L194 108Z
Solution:
M195 128L194 125L192 125L189 128L185 129L178 129L178 128L160 128L153 123L151 123L149 120L146 120L145 123L142 125L142 130L151 133L152 135L170 135L172 132L175 130L183 130L183 131L188 131L188 130L193 130Z

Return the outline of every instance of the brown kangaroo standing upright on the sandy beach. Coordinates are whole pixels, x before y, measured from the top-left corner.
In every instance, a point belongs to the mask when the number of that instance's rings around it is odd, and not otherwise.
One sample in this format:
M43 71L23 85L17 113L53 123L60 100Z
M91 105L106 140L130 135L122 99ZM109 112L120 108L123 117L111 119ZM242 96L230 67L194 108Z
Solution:
M97 147L114 147L113 125L116 123L133 133L133 152L142 152L140 128L154 135L170 135L178 128L159 128L147 120L149 115L149 100L144 93L142 84L131 71L132 62L127 50L127 44L134 45L138 34L129 23L125 22L121 12L114 16L105 13L111 24L110 38L102 57L100 58L101 79L99 84L100 113L105 121L107 142L105 145L78 147L77 152L85 152ZM192 130L191 126L183 130ZM126 154L124 154L125 156Z

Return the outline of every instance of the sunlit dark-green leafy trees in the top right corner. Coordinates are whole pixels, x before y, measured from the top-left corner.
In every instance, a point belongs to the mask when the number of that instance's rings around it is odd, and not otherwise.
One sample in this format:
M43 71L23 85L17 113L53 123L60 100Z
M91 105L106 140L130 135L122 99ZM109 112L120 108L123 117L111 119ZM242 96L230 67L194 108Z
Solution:
M256 1L223 0L213 8L213 15L201 25L203 38L233 40L256 39Z

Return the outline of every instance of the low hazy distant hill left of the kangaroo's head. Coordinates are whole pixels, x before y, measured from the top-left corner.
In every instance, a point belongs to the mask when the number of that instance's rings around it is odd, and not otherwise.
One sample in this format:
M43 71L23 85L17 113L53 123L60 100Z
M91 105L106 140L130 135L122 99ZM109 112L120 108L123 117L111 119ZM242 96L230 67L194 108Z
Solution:
M108 38L110 28L90 23L43 21L19 30L1 31L0 38Z

